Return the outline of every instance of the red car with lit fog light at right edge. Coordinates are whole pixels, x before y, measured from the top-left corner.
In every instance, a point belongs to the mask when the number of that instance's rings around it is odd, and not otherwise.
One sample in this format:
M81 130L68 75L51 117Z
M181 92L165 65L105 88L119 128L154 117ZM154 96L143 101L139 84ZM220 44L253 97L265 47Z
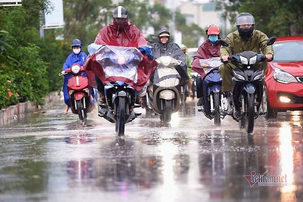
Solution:
M273 48L274 60L268 63L265 75L265 118L303 110L303 36L278 37Z

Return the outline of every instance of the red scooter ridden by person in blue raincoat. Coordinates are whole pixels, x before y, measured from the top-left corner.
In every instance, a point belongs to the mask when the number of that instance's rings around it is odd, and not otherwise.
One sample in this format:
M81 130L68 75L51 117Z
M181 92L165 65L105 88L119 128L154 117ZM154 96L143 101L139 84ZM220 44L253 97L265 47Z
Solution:
M80 121L87 118L87 113L93 110L93 105L91 104L91 99L88 85L88 80L85 75L81 73L85 72L83 66L79 64L74 64L70 68L65 70L65 73L60 73L62 75L73 75L68 79L67 90L70 98L71 110L73 114L78 114Z

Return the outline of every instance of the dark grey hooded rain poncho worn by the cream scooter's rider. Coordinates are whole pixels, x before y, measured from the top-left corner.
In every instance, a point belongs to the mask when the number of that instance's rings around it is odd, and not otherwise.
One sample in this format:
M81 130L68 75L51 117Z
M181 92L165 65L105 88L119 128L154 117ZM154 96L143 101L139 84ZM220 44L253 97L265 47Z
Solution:
M170 42L170 37L168 38L168 41L166 43L161 42L159 35L164 31L169 33L167 29L165 28L161 29L158 33L157 42L150 44L150 46L153 47L151 51L151 55L154 56L155 59L160 58L161 56L170 56L176 60L182 61L182 63L176 67L176 70L178 71L181 77L185 79L189 79L185 67L186 64L185 54L181 51L181 48L179 47L178 44Z

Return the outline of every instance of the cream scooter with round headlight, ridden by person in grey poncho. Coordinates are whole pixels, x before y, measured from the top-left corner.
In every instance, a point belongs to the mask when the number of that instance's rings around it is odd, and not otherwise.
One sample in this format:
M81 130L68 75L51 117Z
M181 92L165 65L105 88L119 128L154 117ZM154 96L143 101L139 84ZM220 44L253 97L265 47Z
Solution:
M156 114L160 114L160 120L170 122L172 113L180 108L180 75L175 69L181 61L170 56L162 56L156 61L154 78L151 78L147 91L147 107Z

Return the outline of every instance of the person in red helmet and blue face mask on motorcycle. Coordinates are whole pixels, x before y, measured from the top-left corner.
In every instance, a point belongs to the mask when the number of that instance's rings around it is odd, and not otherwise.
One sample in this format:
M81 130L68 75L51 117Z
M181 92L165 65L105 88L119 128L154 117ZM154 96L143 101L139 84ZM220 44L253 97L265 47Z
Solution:
M191 63L192 67L200 67L200 59L209 59L214 57L219 57L220 54L220 29L216 25L212 24L205 30L207 33L207 39L198 48L197 53L193 57ZM203 106L204 104L204 94L203 94L203 81L202 78L205 76L204 71L198 72L200 75L196 77L196 87L197 87L197 106Z

